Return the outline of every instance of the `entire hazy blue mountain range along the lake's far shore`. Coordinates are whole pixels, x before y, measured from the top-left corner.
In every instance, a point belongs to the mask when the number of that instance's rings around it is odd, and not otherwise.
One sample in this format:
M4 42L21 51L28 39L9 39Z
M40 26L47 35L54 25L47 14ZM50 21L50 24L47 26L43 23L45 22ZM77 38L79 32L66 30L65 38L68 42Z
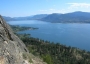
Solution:
M41 20L51 23L90 23L90 13L89 12L72 12L66 14L53 13L53 14L39 14L27 17L5 17L6 21L16 21L16 20Z

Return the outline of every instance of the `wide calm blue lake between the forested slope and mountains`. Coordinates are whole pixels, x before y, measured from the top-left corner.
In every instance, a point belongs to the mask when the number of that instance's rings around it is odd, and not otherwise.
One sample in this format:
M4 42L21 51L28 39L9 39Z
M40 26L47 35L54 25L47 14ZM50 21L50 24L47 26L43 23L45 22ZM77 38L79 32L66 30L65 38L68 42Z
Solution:
M9 21L11 25L39 28L19 33L31 34L32 37L50 42L59 42L66 46L90 51L90 24L84 23L49 23L37 20Z

